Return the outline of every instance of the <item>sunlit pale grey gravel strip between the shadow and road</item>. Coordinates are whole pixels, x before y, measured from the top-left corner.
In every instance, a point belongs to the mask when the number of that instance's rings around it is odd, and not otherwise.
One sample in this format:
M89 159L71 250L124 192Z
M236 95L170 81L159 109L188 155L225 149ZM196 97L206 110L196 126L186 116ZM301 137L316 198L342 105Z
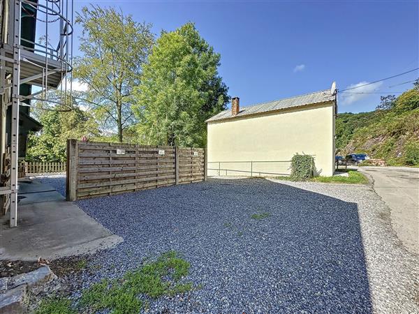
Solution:
M419 313L419 255L397 238L390 209L372 187L272 181L356 203L374 313Z

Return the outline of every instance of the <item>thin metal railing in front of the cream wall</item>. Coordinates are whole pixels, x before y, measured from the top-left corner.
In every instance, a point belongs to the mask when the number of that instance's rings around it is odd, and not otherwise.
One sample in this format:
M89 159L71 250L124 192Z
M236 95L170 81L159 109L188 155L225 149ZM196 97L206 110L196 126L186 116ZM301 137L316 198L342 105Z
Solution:
M233 175L235 172L250 174L250 177L262 177L265 174L288 176L291 174L291 160L209 161L207 170L216 171L219 176Z

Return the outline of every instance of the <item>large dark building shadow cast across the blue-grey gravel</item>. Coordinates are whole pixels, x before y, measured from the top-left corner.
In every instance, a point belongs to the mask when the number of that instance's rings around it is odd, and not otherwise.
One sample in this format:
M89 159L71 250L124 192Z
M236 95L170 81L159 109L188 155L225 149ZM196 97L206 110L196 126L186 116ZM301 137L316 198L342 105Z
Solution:
M124 238L96 255L96 278L170 249L191 263L189 278L203 288L188 301L155 301L159 311L372 313L355 203L264 179L76 203Z

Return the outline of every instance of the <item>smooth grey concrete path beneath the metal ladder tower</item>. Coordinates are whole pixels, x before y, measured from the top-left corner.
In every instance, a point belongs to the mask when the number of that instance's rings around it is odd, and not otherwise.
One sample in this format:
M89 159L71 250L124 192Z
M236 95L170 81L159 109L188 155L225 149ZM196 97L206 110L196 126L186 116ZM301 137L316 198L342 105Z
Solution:
M8 227L8 215L0 220L0 260L94 253L122 241L73 202L66 202L52 186L26 180L19 190L17 227Z

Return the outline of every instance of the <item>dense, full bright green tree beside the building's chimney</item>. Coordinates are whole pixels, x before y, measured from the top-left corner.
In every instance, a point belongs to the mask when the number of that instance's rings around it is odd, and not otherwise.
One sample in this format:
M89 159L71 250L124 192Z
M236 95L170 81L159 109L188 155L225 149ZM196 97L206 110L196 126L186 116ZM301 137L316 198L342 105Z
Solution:
M136 89L142 142L205 145L205 120L229 100L217 71L220 59L192 23L161 33Z

